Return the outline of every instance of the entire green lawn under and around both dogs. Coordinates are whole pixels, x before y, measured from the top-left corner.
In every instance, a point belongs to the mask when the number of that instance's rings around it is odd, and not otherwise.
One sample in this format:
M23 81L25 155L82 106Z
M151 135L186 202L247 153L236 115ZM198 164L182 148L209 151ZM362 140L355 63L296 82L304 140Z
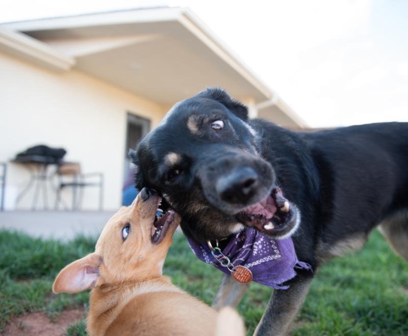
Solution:
M34 239L0 231L0 332L7 321L25 312L42 312L54 321L66 309L88 309L88 293L51 292L58 271L93 251L95 239L68 243ZM164 267L175 285L211 303L221 272L195 258L177 234ZM238 307L248 334L262 316L271 290L252 284ZM408 263L393 254L373 232L362 251L323 266L297 318L294 335L407 335ZM23 326L22 326L23 327ZM67 328L85 333L84 320Z

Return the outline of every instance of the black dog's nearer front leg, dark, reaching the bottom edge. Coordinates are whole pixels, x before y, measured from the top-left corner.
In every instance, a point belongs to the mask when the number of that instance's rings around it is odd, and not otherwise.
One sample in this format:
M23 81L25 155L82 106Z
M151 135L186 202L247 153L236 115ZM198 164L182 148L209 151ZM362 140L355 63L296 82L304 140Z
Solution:
M288 289L274 290L254 335L285 335L308 294L312 279L313 275L298 274Z

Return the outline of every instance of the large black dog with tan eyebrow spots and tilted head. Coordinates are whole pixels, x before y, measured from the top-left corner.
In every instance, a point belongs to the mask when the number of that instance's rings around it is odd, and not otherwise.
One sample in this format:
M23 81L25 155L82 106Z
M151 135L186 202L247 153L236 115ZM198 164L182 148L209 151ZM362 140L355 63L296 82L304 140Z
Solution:
M244 105L207 89L175 104L132 156L137 187L159 190L198 241L244 225L293 235L299 260L315 271L380 225L408 259L408 123L293 132L248 120ZM266 201L273 218L248 208ZM274 291L257 334L288 330L313 274L299 271L288 290ZM245 289L225 276L215 306L237 304Z

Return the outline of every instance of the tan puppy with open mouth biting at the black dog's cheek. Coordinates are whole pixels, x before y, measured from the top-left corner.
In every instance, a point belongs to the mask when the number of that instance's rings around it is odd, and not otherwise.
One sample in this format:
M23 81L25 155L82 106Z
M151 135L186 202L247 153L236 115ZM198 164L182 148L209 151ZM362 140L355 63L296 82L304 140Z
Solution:
M168 212L155 221L160 201L144 188L131 206L122 207L101 232L95 252L58 274L54 293L92 288L91 336L244 335L235 311L217 313L162 275L180 217Z

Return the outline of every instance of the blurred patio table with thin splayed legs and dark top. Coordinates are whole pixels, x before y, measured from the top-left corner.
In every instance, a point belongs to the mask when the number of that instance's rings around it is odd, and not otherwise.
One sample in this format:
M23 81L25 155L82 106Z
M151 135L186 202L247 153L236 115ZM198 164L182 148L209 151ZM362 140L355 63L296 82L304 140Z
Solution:
M18 203L20 203L30 189L35 188L31 206L32 210L37 210L37 202L41 190L44 210L48 210L47 182L51 176L47 175L47 169L49 165L59 164L59 160L50 156L26 155L16 156L15 159L10 162L22 164L30 172L30 181L18 194L15 205L17 206Z

